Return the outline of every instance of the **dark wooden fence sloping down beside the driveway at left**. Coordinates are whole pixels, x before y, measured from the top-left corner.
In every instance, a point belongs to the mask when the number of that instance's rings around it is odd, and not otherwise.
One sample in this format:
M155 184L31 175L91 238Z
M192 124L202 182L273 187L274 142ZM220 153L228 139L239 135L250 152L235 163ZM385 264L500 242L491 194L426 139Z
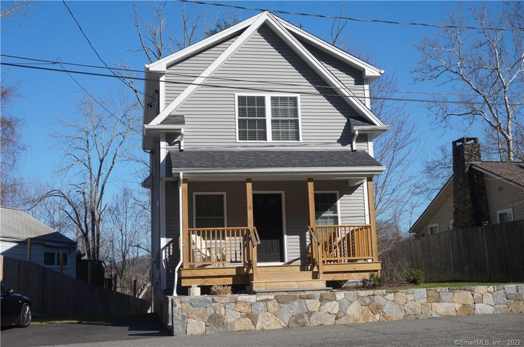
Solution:
M149 301L4 256L0 256L0 281L28 296L33 311L45 316L127 316L146 314L150 307Z

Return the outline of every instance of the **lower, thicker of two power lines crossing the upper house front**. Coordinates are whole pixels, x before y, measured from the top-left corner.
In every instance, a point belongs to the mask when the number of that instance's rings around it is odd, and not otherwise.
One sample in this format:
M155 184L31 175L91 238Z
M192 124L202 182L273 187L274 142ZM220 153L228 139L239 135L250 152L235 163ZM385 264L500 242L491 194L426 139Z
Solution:
M108 75L108 74L101 74L101 73L93 73L93 72L85 72L85 71L76 71L76 70L60 70L56 68L51 67L42 67L42 66L27 66L27 65L20 65L20 64L13 64L13 63L0 63L1 65L6 66L15 66L15 67L25 67L25 68L32 68L36 70L45 70L45 71L55 71L55 72L69 72L74 74L81 74L81 75L91 75L91 76L99 76L99 77L116 77L114 75ZM145 80L150 82L158 82L158 80L154 79L148 79L148 78L142 78L142 77L128 77L129 79L136 79L136 80ZM237 87L237 86L223 86L223 85L214 85L209 83L190 83L190 82L175 82L175 81L165 81L164 83L168 84L181 84L181 85L195 85L195 86L208 86L208 87L215 87L215 88L224 88L224 89L240 89L240 90L251 90L251 91L265 91L265 92L282 92L281 90L275 90L275 89L264 89L264 88L250 88L250 87ZM316 92L307 92L307 91L301 91L300 92L303 95L321 95L321 96L331 96L331 97L340 97L338 94L324 94L324 93L316 93ZM359 96L359 97L353 97L354 99L358 100L360 99L375 99L375 100L391 100L391 101L402 101L402 102L436 102L436 103L450 103L450 104L461 104L461 105L485 105L484 102L477 102L477 101L456 101L456 100L431 100L431 99L407 99L407 98L388 98L388 97L371 97L371 96ZM506 103L492 103L493 106L519 106L519 104L506 104Z

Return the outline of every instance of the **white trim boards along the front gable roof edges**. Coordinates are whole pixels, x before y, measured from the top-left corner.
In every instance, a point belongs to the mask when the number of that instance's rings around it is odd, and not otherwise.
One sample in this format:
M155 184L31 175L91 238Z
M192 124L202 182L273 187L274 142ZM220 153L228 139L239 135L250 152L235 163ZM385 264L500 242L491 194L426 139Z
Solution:
M380 70L369 65L351 54L347 54L342 50L336 49L334 46L328 47L328 44L318 38L315 38L311 34L299 30L299 28L294 27L290 24L286 24L283 19L278 18L277 16L265 11L260 13L252 18L246 19L245 21L225 29L207 39L204 39L198 43L191 45L188 48L185 48L179 52L173 53L157 62L146 65L146 70L148 71L162 71L167 70L168 65L175 64L178 61L185 59L190 55L196 54L206 48L211 47L213 44L220 42L226 38L231 38L238 32L242 31L241 34L235 39L235 41L227 47L213 63L211 63L198 77L196 77L191 84L189 84L180 94L149 123L152 125L160 124L165 120L169 115L177 110L182 103L187 100L194 91L196 91L201 84L205 83L209 76L211 76L215 71L217 71L226 61L240 48L254 32L258 30L262 25L267 25L270 27L277 36L284 41L289 47L304 60L305 63L309 65L312 70L318 74L326 84L333 87L336 94L338 94L348 105L350 105L362 118L368 120L373 125L384 126L385 124L381 122L373 112L365 106L365 104L359 100L351 90L348 90L339 79L337 79L328 68L322 64L316 57L304 48L303 44L297 39L296 36L299 36L303 40L315 44L315 47L324 50L326 53L336 55L340 59L345 59L348 64L353 64L358 66L364 75L368 74L369 76L378 77L381 73ZM292 28L296 36L291 34L290 30Z

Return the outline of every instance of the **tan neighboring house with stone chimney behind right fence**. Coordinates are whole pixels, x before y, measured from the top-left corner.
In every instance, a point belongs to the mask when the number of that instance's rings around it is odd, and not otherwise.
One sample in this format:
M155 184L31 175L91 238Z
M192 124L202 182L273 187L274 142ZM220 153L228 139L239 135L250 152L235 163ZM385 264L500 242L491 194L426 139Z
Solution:
M453 175L410 228L431 235L524 219L524 163L482 161L476 137L453 141Z

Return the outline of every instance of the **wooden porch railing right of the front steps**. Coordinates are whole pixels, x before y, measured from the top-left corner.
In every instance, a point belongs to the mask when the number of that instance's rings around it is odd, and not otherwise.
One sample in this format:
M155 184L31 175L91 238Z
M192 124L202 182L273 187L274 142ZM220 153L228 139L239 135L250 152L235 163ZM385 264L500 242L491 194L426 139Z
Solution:
M312 259L320 265L373 260L373 235L370 225L317 225L310 227L313 235Z

